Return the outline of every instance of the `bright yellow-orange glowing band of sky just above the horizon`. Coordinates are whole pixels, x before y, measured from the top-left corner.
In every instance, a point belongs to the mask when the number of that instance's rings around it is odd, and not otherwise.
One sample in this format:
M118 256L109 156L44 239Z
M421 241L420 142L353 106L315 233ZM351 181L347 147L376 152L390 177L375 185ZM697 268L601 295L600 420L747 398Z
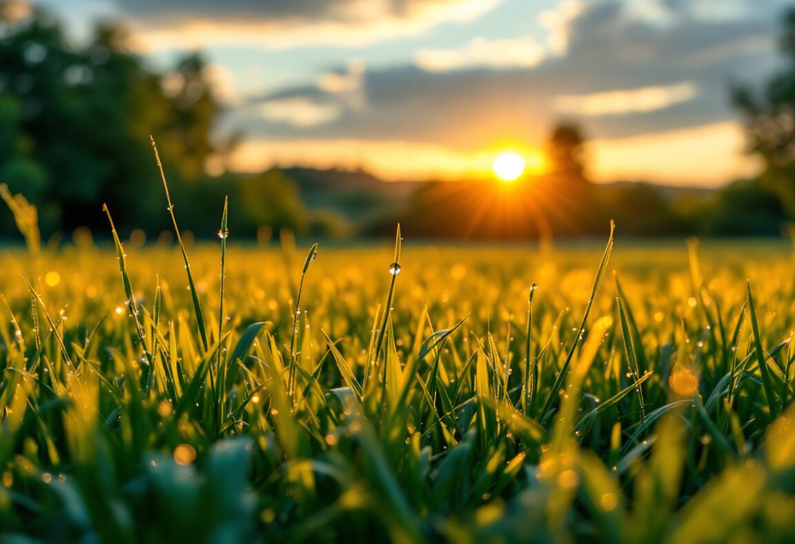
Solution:
M744 148L742 126L718 122L630 138L592 140L586 153L589 176L597 183L644 180L710 187L758 173L758 160L743 153ZM502 151L519 153L529 165L543 160L539 147L520 142L466 152L400 141L249 139L235 150L228 166L248 173L285 165L361 168L386 181L457 181L491 176L491 163Z

